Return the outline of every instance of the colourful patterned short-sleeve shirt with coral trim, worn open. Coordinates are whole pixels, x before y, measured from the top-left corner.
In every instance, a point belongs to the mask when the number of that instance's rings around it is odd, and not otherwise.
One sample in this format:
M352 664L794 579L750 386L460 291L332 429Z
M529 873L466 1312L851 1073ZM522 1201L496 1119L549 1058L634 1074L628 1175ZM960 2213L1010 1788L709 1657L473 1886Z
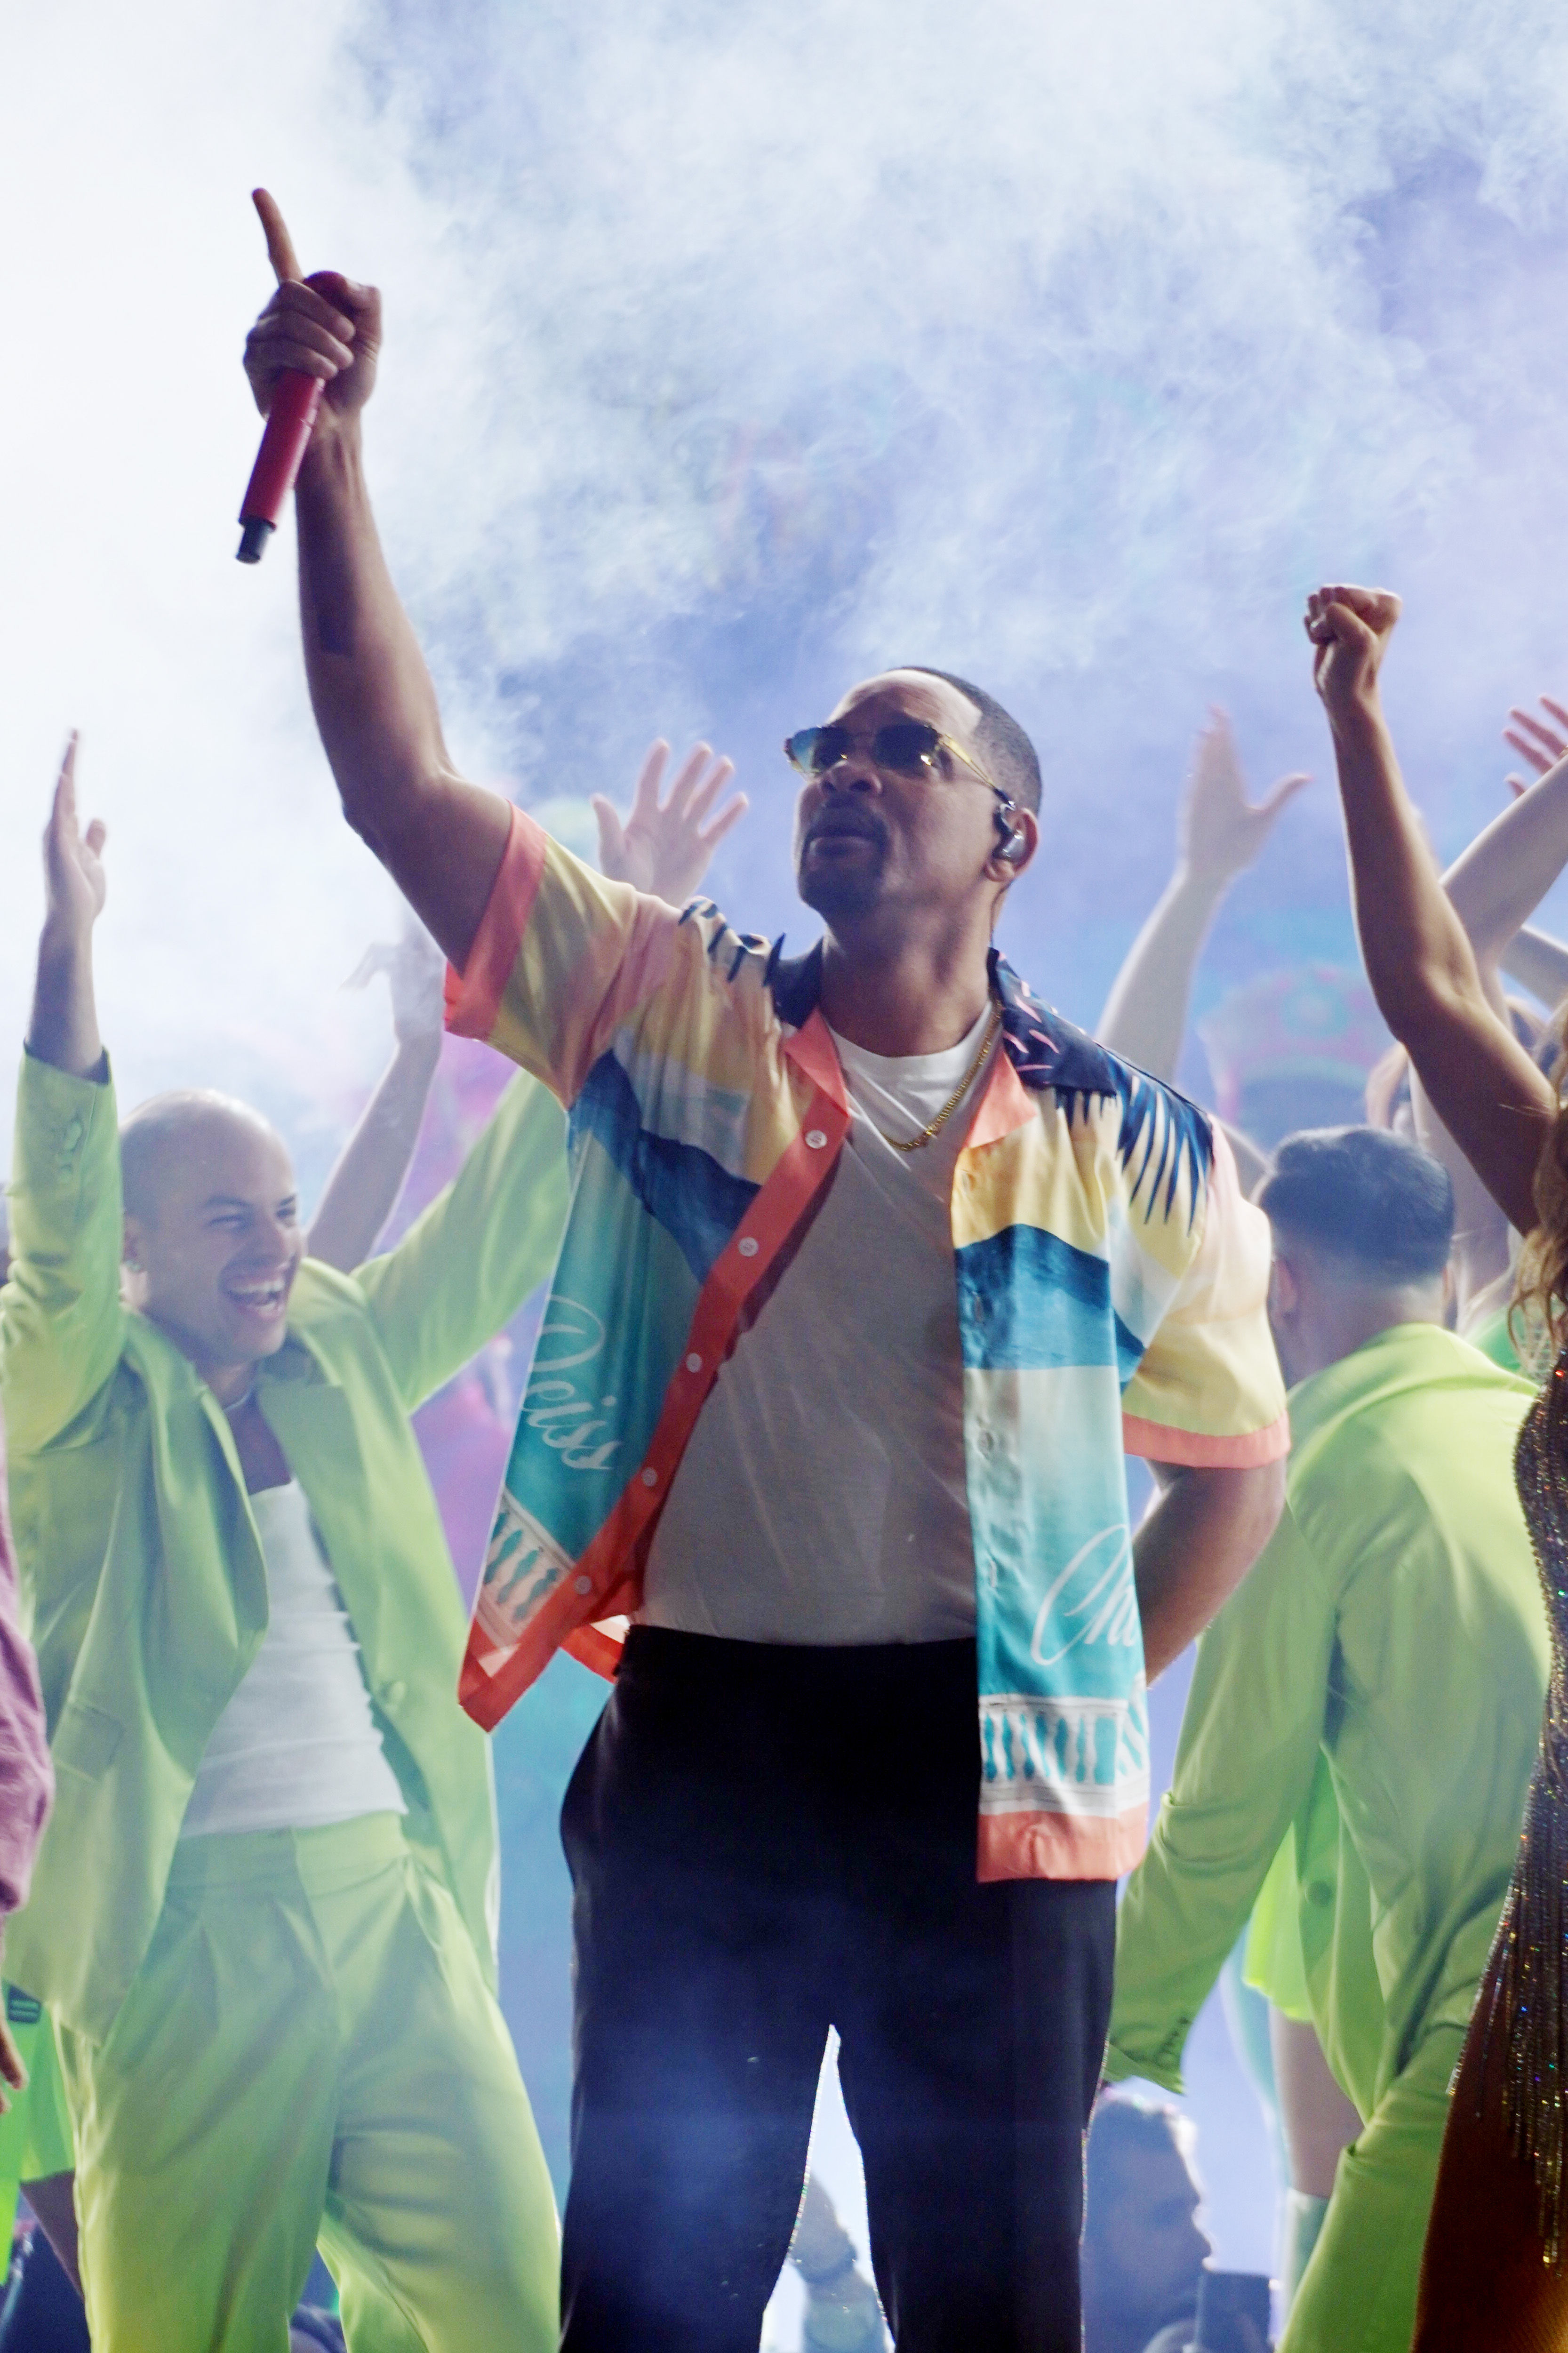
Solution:
M572 1205L469 1638L483 1725L563 1645L614 1668L702 1402L848 1134L817 976L817 951L678 915L513 812L447 1021L567 1104ZM1149 1807L1123 1452L1288 1452L1269 1233L1201 1111L1001 958L991 979L1003 1052L951 1205L979 1875L1116 1878Z

